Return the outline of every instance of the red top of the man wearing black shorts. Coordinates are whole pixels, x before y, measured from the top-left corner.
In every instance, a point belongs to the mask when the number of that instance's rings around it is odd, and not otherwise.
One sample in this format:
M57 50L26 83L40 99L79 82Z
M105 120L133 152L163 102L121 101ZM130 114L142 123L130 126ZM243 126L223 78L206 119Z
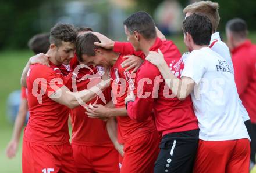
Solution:
M126 45L127 43L115 43L114 50L120 53L125 50L125 53L133 54L135 52L133 47ZM172 41L161 41L157 38L150 51L158 49L165 56L170 71L180 78L184 64L177 47ZM145 55L143 56L145 57ZM127 112L131 119L143 122L148 119L153 110L157 130L162 132L162 135L198 128L191 97L189 96L185 100L173 97L155 65L145 61L137 71L135 83L138 90L137 97L127 106Z

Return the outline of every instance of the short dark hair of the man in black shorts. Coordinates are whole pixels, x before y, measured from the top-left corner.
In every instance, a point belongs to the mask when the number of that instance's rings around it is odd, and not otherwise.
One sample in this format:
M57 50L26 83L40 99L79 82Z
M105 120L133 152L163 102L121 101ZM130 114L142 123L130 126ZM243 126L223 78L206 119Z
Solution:
M126 25L130 33L137 31L145 39L152 39L157 36L157 31L155 30L155 23L150 14L146 12L137 12L131 14L123 24Z

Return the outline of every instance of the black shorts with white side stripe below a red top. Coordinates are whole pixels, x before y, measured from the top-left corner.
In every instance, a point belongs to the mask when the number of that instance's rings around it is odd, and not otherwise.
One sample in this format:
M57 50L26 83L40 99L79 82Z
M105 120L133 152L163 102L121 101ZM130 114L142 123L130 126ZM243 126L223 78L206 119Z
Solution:
M199 129L166 134L159 145L154 172L190 173L197 154Z

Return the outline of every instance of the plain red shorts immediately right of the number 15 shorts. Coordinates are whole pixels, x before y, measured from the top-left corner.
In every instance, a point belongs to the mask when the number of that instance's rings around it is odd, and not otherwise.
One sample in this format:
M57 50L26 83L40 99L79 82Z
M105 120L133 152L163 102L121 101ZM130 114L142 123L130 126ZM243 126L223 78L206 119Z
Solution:
M114 147L72 143L72 148L78 172L119 172L118 151Z

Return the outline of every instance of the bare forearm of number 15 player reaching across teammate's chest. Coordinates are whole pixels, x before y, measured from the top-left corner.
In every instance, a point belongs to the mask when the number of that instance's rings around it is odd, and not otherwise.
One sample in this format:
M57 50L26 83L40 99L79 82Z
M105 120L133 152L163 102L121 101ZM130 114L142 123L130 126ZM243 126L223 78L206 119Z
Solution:
M87 90L82 90L79 92L71 92L66 86L62 86L54 93L49 95L49 98L58 102L59 104L66 105L70 109L75 108L85 102L90 101L98 95L102 90L109 87L111 79L102 80L99 84L91 87Z

